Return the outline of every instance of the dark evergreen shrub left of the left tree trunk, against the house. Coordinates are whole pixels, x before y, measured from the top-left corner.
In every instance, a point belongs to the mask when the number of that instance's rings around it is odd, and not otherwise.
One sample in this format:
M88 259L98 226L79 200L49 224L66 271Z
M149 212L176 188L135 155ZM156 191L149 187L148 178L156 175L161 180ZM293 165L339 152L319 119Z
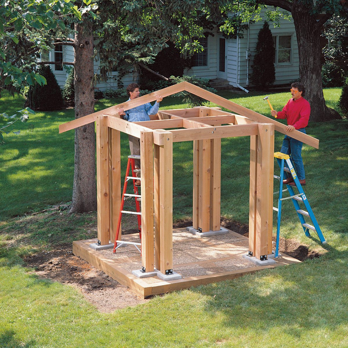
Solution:
M47 85L35 84L31 88L31 105L34 110L53 111L64 108L62 90L52 69L48 65L41 65L38 73L46 78Z

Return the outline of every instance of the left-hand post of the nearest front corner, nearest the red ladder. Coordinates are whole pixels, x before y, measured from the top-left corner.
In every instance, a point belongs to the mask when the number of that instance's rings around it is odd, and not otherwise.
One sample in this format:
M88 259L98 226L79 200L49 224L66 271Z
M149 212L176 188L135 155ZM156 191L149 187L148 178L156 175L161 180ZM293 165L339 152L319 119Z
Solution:
M140 133L141 166L141 261L146 272L153 271L153 135Z

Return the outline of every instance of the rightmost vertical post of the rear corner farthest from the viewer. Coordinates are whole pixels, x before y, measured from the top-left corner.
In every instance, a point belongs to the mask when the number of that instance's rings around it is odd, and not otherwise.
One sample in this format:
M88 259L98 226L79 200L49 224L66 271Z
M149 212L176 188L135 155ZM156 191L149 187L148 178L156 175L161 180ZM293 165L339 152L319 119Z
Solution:
M210 140L210 229L220 230L221 139Z

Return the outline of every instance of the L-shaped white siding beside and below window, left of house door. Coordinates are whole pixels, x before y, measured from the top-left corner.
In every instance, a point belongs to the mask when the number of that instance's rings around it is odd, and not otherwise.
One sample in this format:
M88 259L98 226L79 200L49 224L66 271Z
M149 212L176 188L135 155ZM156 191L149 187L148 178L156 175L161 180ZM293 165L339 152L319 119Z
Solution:
M217 72L217 42L218 37L216 31L214 36L208 36L208 65L207 66L192 66L190 69L184 70L184 75L197 76L206 79L215 79Z

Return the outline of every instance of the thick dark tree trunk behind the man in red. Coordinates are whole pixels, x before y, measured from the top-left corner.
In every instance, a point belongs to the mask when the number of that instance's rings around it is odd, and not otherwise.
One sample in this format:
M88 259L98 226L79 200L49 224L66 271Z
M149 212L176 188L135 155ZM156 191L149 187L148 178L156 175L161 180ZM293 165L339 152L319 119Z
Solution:
M300 80L306 87L305 98L311 106L311 121L341 119L340 114L325 105L321 73L319 39L322 25L306 6L294 1L291 10L299 48Z

